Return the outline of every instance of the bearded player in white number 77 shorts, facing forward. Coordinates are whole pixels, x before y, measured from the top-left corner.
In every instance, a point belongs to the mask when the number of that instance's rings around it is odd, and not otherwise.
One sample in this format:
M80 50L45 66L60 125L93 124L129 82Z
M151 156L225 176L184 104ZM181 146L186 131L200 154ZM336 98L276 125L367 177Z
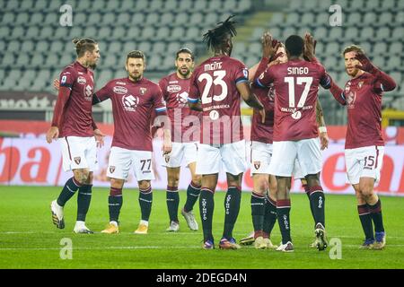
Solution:
M152 168L151 117L153 111L164 123L162 150L171 152L170 119L166 117L165 101L158 84L145 79L145 54L132 51L127 54L127 78L114 79L93 94L92 104L112 101L114 135L112 138L107 177L110 178L108 199L110 224L102 233L119 233L119 213L123 204L122 188L133 169L138 187L141 221L136 234L147 234L153 193L150 181ZM57 83L55 84L57 86Z

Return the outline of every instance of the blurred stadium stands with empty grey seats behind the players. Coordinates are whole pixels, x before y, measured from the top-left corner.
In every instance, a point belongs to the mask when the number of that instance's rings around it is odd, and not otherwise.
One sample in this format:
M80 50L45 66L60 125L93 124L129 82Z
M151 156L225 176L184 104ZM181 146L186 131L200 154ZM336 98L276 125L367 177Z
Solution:
M72 26L59 22L64 4L72 8ZM329 24L332 4L342 9L341 26ZM91 37L99 42L96 90L112 78L127 75L125 58L133 49L145 52L145 76L157 82L173 71L180 47L194 50L197 63L209 57L202 34L235 14L239 24L233 57L248 66L259 62L263 31L269 30L280 40L310 31L318 39L316 54L321 63L343 86L347 75L341 51L352 43L362 46L375 65L398 83L383 98L382 124L388 143L404 143L402 0L0 0L0 7L0 132L4 136L42 136L43 141L48 128L43 123L52 117L57 94L52 81L75 59L72 39ZM346 110L338 107L328 91L320 94L326 123L336 127L330 131L331 143L341 143ZM107 133L111 133L110 109L110 101L93 109L94 118L105 124L102 127ZM249 120L245 117L247 128ZM6 163L3 161L3 178L13 182ZM398 163L398 174L402 164ZM400 188L396 189L404 193Z

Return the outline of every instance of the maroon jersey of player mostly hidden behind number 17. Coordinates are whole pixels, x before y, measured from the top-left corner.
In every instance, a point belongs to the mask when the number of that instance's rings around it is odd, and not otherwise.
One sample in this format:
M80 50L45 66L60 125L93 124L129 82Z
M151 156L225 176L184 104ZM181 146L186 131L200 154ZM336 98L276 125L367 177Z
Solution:
M253 109L251 120L250 140L260 143L272 143L274 136L274 100L275 91L272 85L269 88L252 87L259 101L265 109L265 123L258 109Z

